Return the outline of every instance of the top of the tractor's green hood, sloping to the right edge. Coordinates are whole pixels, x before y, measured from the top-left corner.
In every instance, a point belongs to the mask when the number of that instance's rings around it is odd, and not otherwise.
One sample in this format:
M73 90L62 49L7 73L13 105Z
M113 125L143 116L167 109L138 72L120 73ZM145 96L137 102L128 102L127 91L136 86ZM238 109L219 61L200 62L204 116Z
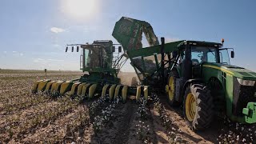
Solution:
M234 77L242 78L246 80L256 80L256 73L250 70L246 70L243 67L226 65L221 63L204 63L203 66L212 67L218 70L222 70L228 74L234 75Z

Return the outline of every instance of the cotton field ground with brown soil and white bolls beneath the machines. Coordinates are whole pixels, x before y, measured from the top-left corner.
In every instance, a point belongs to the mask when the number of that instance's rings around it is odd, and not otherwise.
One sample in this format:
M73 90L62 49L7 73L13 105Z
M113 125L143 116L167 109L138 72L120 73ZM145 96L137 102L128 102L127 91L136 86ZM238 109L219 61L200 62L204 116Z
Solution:
M49 71L47 78L69 80L82 73ZM183 120L182 107L170 107L165 94L148 102L90 102L68 96L31 94L40 70L0 70L0 143L254 143L255 125L214 118L208 130L194 132ZM120 73L131 84L134 73Z

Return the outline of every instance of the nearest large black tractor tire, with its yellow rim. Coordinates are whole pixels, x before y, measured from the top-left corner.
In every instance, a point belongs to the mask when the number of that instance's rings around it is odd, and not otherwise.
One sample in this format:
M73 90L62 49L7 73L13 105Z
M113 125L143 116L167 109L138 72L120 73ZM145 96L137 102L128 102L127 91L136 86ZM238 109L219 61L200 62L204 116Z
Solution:
M213 98L206 86L193 84L186 88L183 114L192 130L205 130L210 126L214 115L213 108Z

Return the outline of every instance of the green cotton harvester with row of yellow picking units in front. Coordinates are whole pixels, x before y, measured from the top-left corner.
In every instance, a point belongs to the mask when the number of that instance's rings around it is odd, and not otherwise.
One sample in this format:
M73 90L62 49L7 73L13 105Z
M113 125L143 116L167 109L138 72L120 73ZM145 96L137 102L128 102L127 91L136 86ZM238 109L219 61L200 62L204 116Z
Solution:
M43 92L52 96L58 96L69 92L71 97L93 98L96 94L106 94L110 99L122 95L122 101L126 101L128 86L120 85L118 72L127 60L125 53L122 53L122 46L118 46L118 52L112 41L100 40L92 44L67 45L66 52L71 46L82 49L80 56L80 69L84 74L81 78L71 81L41 80L34 82L33 93Z

